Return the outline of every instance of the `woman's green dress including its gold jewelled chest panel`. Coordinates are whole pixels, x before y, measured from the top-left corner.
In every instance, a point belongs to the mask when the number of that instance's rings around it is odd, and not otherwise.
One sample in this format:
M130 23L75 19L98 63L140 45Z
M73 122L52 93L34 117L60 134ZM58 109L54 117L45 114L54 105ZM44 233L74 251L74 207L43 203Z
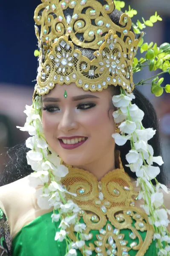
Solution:
M77 195L66 194L66 197L81 208L78 218L86 224L86 234L90 235L86 249L92 250L92 256L156 256L153 227L146 213L135 207L138 193L121 162L118 169L107 173L99 182L89 172L68 168L69 173L61 182ZM49 212L37 217L17 233L12 241L12 256L65 256L66 241L55 241L60 222L52 223L51 215ZM75 242L73 226L67 231ZM6 248L3 256L11 255L4 232L1 232L1 247ZM81 250L77 253L82 255Z

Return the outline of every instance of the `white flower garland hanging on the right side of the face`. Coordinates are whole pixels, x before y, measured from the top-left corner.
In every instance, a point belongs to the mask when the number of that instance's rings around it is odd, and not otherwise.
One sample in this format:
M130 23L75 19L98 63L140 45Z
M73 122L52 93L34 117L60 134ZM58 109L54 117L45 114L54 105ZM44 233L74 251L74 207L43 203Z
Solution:
M130 140L131 150L126 155L129 164L126 166L130 167L137 176L137 186L140 186L138 199L144 199L144 205L141 207L150 216L149 223L153 225L153 239L157 239L158 256L170 256L170 232L167 230L170 223L167 214L170 215L170 210L164 207L163 193L160 192L160 188L166 193L168 191L165 185L156 180L156 176L160 173L159 167L152 166L153 162L159 166L164 162L162 157L153 156L153 148L147 141L155 135L156 131L143 127L141 121L144 112L132 104L132 99L135 99L133 93L128 94L122 89L120 95L112 97L113 105L117 108L113 113L115 123L121 122L118 126L120 134L112 134L112 137L117 145L124 145L127 140ZM153 179L156 181L156 187L151 182ZM163 241L165 247L162 244Z

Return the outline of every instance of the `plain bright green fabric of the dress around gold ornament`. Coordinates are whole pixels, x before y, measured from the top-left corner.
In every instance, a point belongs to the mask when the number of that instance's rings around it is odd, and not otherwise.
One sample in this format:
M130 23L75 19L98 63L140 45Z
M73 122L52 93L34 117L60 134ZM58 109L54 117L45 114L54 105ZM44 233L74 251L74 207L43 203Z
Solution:
M52 223L52 212L41 215L33 220L28 225L24 226L20 232L14 237L12 241L12 256L64 256L66 250L66 243L55 241L55 233L59 231L59 222ZM81 219L83 222L83 219ZM109 223L109 221L107 222ZM133 224L134 226L134 221ZM113 227L114 228L114 227ZM92 240L89 242L94 243L96 241L96 234L98 230L92 230ZM133 241L138 242L138 239L132 240L129 237L130 230L121 230L120 233L124 233L124 240L128 241L127 246ZM142 239L144 240L146 232L140 232ZM88 244L88 243L87 243ZM135 256L138 251L130 250L129 255ZM81 252L78 250L78 256L81 256ZM93 251L92 256L96 256ZM150 247L145 253L145 256L156 256L156 242L153 241Z

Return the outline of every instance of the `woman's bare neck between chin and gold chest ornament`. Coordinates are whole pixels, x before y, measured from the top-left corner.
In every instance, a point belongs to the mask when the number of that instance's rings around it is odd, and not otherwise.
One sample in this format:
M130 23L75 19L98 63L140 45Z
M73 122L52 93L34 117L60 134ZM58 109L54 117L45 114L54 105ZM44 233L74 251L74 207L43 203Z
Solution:
M103 154L92 163L74 167L91 172L100 181L107 172L115 169L115 149L107 151L107 154Z

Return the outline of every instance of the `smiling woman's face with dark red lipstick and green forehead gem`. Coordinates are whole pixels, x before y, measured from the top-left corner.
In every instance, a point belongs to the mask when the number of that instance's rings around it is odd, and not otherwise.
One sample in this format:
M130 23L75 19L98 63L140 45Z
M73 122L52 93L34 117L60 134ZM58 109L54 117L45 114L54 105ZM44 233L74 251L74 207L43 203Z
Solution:
M73 83L57 84L42 100L47 143L65 163L84 166L111 151L114 154L114 107L109 90L90 92Z

